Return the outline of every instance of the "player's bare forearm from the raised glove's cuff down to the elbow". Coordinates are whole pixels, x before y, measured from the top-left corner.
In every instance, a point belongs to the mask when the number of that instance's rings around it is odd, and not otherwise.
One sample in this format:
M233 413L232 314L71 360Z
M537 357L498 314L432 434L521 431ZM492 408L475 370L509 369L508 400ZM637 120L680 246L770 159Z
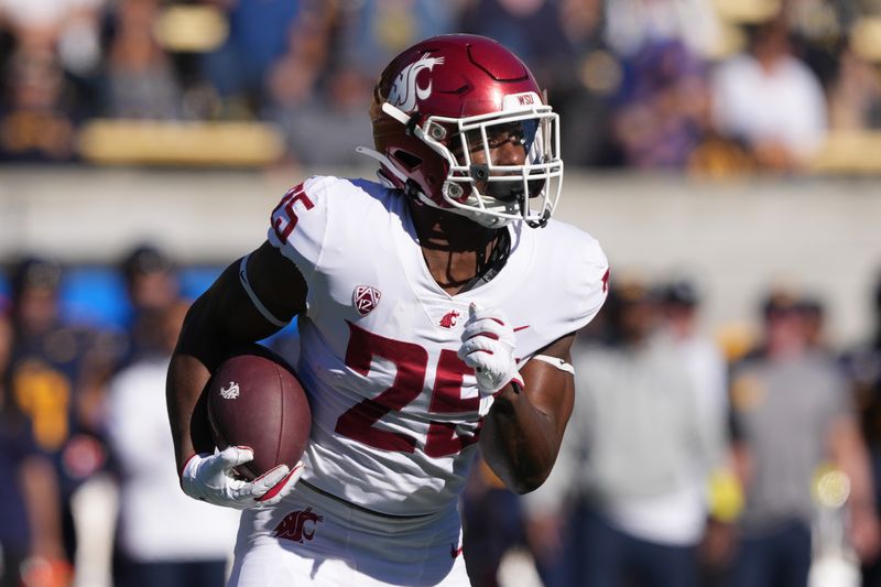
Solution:
M541 486L554 466L559 442L552 418L521 390L508 385L483 420L480 448L487 464L516 493Z

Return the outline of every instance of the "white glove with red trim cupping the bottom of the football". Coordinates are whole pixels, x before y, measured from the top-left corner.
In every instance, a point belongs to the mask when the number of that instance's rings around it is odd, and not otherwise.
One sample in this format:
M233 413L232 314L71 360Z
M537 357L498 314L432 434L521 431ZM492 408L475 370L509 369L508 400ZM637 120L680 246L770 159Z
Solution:
M247 510L278 503L291 492L303 475L301 461L293 469L289 469L287 465L279 465L253 481L237 479L232 472L233 467L253 458L253 450L247 446L229 446L214 455L193 455L184 465L181 487L193 499Z

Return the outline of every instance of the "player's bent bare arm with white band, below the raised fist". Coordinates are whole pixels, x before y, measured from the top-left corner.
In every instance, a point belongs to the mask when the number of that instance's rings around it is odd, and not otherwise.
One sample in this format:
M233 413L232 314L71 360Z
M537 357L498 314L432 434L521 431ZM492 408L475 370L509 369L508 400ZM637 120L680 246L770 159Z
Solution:
M572 362L575 335L564 336L537 355ZM557 458L575 402L575 379L543 361L520 370L523 389L507 385L483 418L480 449L492 471L516 493L537 489Z

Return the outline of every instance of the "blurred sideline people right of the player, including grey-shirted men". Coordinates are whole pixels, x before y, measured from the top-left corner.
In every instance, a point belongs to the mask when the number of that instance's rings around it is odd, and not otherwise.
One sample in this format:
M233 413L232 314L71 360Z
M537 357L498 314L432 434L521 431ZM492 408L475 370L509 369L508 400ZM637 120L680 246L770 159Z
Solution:
M548 480L518 498L471 478L475 585L881 586L881 281L874 338L848 349L805 293L769 291L746 345L705 331L703 301L612 280ZM524 558L531 581L500 580Z

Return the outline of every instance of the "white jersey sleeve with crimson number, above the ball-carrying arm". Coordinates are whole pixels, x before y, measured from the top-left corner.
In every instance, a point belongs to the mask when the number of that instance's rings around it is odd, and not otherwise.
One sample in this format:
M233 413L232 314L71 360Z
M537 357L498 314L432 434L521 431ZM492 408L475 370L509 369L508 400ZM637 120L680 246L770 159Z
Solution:
M290 259L311 287L328 233L331 177L311 177L282 197L272 210L269 242Z

